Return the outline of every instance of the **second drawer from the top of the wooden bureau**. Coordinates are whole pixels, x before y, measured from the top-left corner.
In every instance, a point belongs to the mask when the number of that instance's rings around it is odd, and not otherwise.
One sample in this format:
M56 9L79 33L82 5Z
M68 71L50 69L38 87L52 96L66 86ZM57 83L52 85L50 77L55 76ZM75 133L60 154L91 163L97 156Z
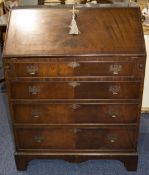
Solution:
M139 82L13 82L12 99L138 99Z

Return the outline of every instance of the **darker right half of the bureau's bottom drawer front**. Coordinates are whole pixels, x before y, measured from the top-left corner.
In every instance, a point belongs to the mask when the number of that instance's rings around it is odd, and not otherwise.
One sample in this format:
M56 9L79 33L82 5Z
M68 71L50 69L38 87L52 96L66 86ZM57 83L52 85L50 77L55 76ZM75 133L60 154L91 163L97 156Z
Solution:
M76 129L76 147L78 149L134 149L134 128L89 128Z

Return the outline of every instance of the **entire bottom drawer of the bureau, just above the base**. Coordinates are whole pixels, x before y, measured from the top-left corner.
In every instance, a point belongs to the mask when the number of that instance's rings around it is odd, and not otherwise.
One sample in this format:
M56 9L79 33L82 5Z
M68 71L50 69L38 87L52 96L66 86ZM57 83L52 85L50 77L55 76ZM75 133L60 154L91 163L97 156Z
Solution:
M134 127L17 128L18 149L135 149Z

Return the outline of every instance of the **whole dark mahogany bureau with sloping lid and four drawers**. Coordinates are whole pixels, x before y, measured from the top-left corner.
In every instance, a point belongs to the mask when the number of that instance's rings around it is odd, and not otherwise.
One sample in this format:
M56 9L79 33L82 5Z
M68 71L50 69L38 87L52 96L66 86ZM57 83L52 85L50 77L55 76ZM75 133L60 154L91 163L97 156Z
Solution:
M137 168L146 51L140 9L14 9L3 51L18 170L33 159Z

